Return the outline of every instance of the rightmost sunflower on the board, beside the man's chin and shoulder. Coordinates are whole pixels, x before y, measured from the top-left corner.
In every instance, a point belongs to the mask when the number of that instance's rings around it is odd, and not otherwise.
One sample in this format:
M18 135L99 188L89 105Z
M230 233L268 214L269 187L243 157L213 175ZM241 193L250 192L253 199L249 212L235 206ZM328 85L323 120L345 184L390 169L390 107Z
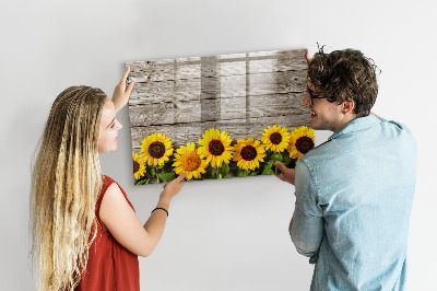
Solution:
M299 160L315 147L314 129L306 126L296 128L292 132L287 151L290 158Z

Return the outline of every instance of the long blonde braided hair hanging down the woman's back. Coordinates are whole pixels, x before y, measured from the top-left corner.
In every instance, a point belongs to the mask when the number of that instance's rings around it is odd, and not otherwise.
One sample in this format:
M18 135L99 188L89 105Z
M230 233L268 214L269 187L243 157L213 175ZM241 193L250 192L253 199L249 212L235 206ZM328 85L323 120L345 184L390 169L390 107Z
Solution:
M38 290L73 290L86 267L102 189L98 133L105 98L99 89L71 86L51 106L31 189Z

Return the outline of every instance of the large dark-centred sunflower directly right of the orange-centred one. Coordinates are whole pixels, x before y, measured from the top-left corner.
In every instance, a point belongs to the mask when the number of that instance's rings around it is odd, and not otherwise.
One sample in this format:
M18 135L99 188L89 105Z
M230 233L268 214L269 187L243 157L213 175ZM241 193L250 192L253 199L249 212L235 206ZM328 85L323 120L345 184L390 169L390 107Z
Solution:
M211 162L212 167L222 166L223 162L229 163L234 153L234 147L231 146L232 139L225 132L211 128L202 135L199 140L199 153L202 159L206 158L206 162Z

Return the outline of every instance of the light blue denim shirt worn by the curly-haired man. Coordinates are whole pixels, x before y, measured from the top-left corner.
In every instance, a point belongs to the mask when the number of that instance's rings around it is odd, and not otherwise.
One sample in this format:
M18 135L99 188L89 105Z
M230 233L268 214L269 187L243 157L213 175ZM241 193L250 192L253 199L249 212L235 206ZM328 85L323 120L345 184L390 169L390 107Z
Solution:
M296 164L292 241L310 290L405 290L416 143L402 124L356 118Z

